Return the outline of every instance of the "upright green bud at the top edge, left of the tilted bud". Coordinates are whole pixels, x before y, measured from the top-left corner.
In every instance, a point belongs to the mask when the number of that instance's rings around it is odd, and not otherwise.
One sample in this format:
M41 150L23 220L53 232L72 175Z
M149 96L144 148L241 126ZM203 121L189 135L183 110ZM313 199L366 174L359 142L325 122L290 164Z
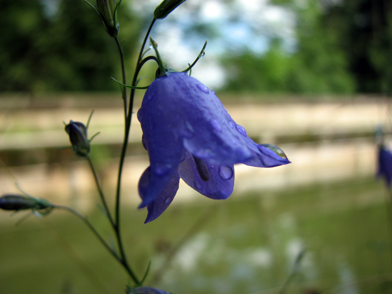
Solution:
M116 37L119 33L118 5L116 0L97 0L97 10L106 27L107 33L111 37Z

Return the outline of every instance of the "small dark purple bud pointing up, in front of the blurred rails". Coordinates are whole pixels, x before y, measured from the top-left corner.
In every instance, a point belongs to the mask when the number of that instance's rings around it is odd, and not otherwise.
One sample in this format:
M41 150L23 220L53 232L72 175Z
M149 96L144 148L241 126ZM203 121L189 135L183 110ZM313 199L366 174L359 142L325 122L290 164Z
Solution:
M87 139L87 128L83 123L70 121L65 126L70 136L73 152L77 156L85 157L90 153L90 141Z

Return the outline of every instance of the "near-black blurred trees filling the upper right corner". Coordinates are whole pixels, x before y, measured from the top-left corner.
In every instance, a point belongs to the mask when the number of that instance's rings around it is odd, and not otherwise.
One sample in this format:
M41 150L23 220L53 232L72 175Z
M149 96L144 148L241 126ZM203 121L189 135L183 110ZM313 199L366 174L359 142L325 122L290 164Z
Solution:
M392 2L345 0L329 5L326 25L339 37L359 92L392 92Z

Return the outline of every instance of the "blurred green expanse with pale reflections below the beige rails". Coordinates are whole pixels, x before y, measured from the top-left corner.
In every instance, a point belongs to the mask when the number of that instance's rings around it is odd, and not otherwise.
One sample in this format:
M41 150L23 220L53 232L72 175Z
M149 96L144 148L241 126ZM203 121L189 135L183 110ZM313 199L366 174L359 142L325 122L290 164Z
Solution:
M151 260L147 284L174 294L270 294L306 249L284 293L391 293L383 183L371 177L293 189L225 201L200 196L147 225L145 211L126 208L129 261L141 277ZM23 214L5 214L0 294L124 293L129 279L81 221L54 211L16 227ZM98 209L89 220L110 235Z

